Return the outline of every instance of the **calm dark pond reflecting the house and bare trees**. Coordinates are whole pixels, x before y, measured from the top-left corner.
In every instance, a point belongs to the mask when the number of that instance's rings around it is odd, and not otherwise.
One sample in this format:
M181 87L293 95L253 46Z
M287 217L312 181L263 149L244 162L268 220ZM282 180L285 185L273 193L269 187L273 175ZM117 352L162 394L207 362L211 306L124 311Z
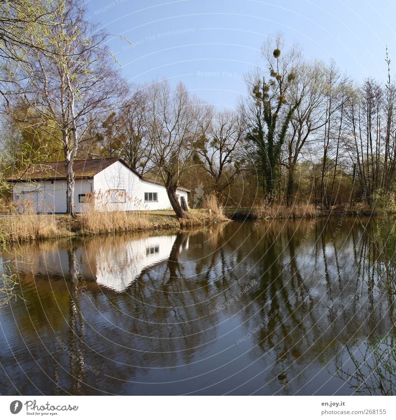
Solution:
M346 345L390 330L371 253L337 217L15 247L1 394L350 395Z

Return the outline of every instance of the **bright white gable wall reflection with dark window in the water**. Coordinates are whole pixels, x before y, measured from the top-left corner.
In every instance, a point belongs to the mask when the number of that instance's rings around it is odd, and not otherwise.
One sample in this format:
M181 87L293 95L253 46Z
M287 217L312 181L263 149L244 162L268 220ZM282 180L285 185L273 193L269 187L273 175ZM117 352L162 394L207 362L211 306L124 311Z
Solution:
M152 236L99 249L96 254L96 281L116 292L122 292L142 271L170 256L176 235Z

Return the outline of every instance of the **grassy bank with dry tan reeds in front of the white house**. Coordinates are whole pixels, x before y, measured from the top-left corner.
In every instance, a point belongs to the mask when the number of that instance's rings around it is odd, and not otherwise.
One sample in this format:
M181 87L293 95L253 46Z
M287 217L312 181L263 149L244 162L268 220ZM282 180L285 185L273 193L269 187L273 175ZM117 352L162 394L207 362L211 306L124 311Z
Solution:
M191 209L188 220L179 220L173 211L89 212L73 219L66 215L4 215L0 217L0 242L29 242L37 239L181 229L223 222L222 214Z

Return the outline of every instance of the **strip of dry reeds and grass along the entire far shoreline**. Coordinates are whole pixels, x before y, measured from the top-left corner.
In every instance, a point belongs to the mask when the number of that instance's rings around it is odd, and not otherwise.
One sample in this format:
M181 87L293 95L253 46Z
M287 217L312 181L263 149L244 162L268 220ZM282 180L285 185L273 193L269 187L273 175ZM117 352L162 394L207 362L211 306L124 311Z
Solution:
M234 220L276 220L312 219L318 217L375 216L385 214L369 208L342 206L320 210L313 206L272 207L268 209L225 209L223 213L213 213L206 209L190 209L190 218L180 220L173 211L156 210L139 213L111 212L80 214L75 219L67 215L23 214L0 217L0 244L34 242L37 240L61 239L69 237L97 236L114 233L155 232L203 227L212 223Z

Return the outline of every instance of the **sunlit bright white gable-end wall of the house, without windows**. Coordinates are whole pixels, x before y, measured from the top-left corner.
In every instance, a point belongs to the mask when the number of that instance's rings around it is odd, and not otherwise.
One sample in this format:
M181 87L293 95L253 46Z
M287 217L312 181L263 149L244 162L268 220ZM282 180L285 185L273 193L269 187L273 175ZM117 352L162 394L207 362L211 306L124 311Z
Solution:
M106 207L109 210L162 210L171 207L165 187L140 179L121 162L114 162L103 169L94 177L95 194L100 192L105 196ZM125 189L125 203L110 203L109 196L105 191L109 189ZM145 201L145 192L156 192L157 201ZM177 190L177 194L183 195L187 202L187 192ZM99 200L96 200L100 208Z

